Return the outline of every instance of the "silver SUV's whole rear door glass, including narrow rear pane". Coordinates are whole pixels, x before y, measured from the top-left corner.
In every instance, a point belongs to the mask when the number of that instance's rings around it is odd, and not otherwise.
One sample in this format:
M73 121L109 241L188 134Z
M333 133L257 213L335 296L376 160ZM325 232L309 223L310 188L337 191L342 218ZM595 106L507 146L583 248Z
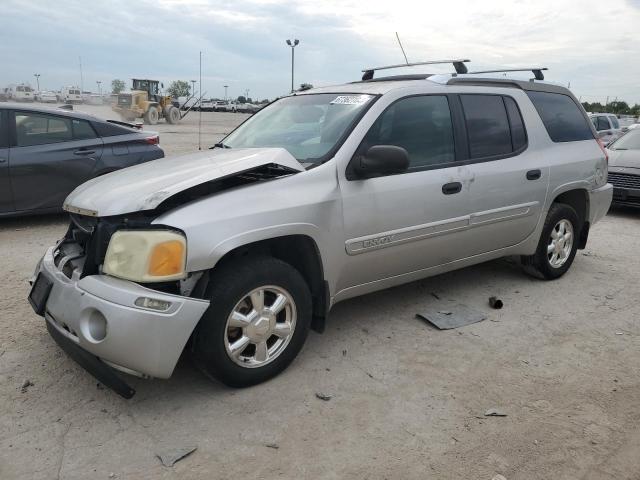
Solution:
M511 154L527 143L515 101L501 95L460 95L472 159Z

